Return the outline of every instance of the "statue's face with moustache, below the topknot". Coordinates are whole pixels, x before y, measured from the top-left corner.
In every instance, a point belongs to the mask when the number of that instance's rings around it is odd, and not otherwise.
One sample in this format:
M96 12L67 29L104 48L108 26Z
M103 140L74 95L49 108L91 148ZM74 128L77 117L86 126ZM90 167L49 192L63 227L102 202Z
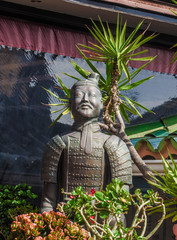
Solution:
M103 104L100 91L92 85L81 85L75 88L71 99L71 110L74 118L98 117Z

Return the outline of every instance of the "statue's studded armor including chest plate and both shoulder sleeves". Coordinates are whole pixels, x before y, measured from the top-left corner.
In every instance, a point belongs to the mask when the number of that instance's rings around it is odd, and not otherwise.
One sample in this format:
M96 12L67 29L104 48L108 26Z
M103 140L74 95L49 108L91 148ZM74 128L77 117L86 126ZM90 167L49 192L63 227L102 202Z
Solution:
M125 143L114 135L93 133L90 154L80 147L79 132L62 138L57 135L47 144L44 152L42 180L57 183L57 174L61 175L60 188L67 192L78 186L88 192L92 188L100 190L101 186L104 187L116 177L125 184L131 184L131 158Z

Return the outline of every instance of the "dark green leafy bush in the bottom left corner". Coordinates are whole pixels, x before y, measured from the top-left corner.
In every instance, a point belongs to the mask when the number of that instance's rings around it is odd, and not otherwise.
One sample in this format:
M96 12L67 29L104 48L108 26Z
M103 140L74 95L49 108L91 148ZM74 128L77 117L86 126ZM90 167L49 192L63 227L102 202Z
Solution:
M27 184L0 185L0 240L11 239L11 223L15 216L38 211L32 204L36 198Z

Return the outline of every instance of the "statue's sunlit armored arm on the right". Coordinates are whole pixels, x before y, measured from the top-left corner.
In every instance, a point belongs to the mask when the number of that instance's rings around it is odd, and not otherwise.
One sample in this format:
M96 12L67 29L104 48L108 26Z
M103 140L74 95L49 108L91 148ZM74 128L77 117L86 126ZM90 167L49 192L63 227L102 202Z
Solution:
M117 136L112 135L104 144L111 167L113 179L119 178L129 190L132 184L132 159L126 144Z

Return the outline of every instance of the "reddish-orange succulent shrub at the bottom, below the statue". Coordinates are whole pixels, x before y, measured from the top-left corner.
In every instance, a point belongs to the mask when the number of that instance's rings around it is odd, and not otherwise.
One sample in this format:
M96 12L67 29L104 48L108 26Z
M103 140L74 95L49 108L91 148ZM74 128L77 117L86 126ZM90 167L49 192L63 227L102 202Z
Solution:
M60 212L29 213L16 217L11 225L15 240L91 240L89 233Z

